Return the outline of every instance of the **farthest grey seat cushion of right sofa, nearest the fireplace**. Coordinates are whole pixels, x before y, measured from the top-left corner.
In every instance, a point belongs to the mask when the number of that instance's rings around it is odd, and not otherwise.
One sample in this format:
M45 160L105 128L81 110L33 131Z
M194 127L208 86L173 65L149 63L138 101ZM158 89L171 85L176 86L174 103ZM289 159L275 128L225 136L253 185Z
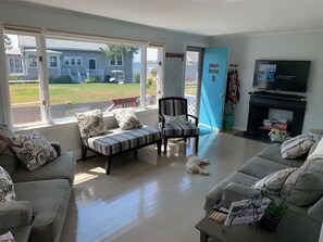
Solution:
M307 155L294 158L294 160L285 160L281 154L281 145L275 143L270 145L269 148L261 151L258 157L265 158L272 162L281 163L291 167L300 167L307 158Z

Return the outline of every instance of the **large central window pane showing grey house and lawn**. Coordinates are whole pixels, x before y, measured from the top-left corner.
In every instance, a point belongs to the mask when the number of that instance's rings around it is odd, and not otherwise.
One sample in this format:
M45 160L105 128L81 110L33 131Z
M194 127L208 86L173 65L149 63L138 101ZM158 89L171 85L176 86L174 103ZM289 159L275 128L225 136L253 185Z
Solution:
M111 66L101 50L108 48L104 43L50 38L46 46L64 60L64 65L58 62L58 68L48 69L52 118L94 109L140 105L140 80L134 82L132 55L124 56L125 65ZM71 65L66 65L67 58ZM90 60L95 60L95 68L90 68Z

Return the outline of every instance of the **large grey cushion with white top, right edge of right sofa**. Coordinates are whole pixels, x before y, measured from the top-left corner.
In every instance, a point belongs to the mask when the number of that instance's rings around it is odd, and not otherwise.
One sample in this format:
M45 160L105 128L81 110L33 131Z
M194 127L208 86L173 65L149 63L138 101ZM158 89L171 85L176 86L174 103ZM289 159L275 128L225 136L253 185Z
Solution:
M323 140L305 164L283 184L281 198L297 206L308 206L323 195Z

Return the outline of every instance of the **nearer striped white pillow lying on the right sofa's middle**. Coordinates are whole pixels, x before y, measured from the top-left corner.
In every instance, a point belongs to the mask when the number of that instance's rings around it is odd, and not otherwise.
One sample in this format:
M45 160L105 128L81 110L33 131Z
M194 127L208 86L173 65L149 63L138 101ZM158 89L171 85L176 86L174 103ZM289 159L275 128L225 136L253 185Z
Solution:
M298 168L286 168L275 171L259 180L256 184L252 186L252 188L258 190L266 190L271 193L277 194L279 193L285 180L297 169Z

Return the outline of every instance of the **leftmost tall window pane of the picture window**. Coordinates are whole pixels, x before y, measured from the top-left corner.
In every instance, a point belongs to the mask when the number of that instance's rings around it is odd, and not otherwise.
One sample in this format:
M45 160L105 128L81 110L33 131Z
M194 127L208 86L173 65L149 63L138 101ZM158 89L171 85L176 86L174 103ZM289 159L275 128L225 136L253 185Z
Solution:
M41 120L36 38L4 36L11 40L4 48L13 125L28 126Z

